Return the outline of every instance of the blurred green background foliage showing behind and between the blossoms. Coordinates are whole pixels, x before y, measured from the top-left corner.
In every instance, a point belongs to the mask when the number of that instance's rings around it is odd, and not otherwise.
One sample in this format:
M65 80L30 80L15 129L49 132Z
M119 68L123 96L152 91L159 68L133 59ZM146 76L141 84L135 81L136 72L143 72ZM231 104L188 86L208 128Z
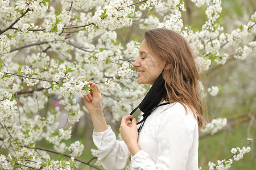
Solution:
M192 25L201 30L201 26L207 20L205 15L206 6L196 7L191 1L184 1L187 11L183 12L184 25ZM138 6L137 6L138 7ZM58 8L58 7L56 7ZM218 20L224 27L224 31L230 33L233 29L239 28L241 24L248 22L250 15L255 12L256 2L253 0L224 0L222 1L222 13ZM154 11L150 11L152 14ZM143 15L147 15L144 11ZM156 14L157 15L157 14ZM143 32L139 29L138 23L131 27L116 30L118 41L126 44L130 40L143 40ZM248 38L255 40L255 35ZM249 41L245 40L245 42ZM228 49L234 50L234 49ZM205 101L208 105L208 113L205 113L205 120L208 122L213 118L226 117L228 125L214 135L200 133L199 143L199 167L204 169L208 162L227 159L232 154L233 147L242 147L249 143L247 138L256 140L256 73L255 73L256 54L251 53L245 60L228 58L225 65L212 65L204 75L206 88L209 86L220 85L220 92L217 96L208 95ZM55 100L49 101L48 109L54 107ZM84 103L81 99L81 107ZM127 113L129 114L129 113ZM120 122L112 123L112 118L108 114L106 120L118 136ZM65 118L60 121L60 126L65 125ZM89 161L93 156L91 148L95 148L92 141L93 126L89 114L85 114L80 122L73 125L72 138L63 141L67 146L77 140L82 141L85 148L80 156L81 160ZM255 142L254 142L255 143ZM255 145L251 145L249 154L239 162L234 162L231 169L254 169L256 164ZM37 146L52 148L47 141L40 141ZM61 156L61 155L60 155ZM52 158L56 155L52 155ZM90 169L86 165L81 165L81 169Z

